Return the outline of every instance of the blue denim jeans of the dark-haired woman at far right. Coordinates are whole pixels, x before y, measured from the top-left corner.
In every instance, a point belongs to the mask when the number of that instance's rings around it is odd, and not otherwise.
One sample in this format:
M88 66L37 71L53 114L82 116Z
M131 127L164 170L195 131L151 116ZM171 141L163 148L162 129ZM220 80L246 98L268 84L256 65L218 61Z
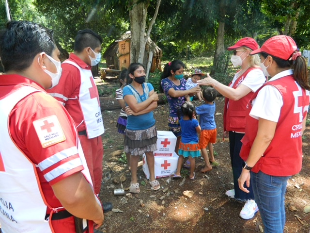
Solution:
M251 172L255 201L260 210L265 233L283 233L285 225L284 196L290 176L270 176Z

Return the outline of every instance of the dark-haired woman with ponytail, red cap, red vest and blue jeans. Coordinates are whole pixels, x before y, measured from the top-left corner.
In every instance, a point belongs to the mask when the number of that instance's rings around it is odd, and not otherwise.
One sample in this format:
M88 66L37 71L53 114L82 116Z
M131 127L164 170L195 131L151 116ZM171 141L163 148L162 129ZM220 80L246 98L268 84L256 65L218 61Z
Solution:
M287 180L301 169L310 85L305 59L291 37L271 37L250 54L257 53L264 74L271 79L248 103L240 152L245 164L238 181L247 193L244 184L252 184L264 232L282 233Z

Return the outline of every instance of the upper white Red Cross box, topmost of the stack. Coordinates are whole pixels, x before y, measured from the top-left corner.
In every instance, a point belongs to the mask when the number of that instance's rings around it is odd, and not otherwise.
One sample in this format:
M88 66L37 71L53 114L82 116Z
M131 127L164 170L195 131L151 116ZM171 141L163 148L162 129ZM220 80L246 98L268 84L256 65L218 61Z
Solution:
M171 131L157 131L157 150L154 156L172 156L176 144L176 136Z

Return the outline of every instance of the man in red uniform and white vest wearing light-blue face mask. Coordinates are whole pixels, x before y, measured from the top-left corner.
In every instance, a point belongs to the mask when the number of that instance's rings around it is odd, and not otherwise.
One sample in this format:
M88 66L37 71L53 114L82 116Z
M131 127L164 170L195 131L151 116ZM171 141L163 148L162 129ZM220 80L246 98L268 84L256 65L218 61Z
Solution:
M78 31L74 52L62 63L59 84L48 93L59 100L74 119L86 162L91 173L95 193L99 195L102 179L103 145L105 132L97 87L91 68L101 60L102 38L91 29ZM104 202L104 210L112 209Z

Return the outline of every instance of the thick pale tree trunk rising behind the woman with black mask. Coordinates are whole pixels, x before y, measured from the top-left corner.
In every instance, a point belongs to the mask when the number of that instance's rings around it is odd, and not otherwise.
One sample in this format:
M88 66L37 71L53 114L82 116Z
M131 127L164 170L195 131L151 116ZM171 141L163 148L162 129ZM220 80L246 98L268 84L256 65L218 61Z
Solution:
M130 18L130 63L143 62L144 50L145 50L145 25L147 17L147 2L139 2L139 0L133 0L133 4L129 6L129 18ZM141 47L144 47L142 49ZM143 54L140 54L140 51ZM140 60L142 57L142 60Z

